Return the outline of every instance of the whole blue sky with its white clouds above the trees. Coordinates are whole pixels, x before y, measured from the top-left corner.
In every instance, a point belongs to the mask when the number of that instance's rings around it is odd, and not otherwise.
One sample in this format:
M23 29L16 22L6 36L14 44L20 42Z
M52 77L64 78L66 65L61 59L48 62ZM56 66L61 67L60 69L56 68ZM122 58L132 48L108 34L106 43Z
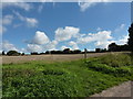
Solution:
M0 9L6 52L93 51L129 38L130 2L4 2Z

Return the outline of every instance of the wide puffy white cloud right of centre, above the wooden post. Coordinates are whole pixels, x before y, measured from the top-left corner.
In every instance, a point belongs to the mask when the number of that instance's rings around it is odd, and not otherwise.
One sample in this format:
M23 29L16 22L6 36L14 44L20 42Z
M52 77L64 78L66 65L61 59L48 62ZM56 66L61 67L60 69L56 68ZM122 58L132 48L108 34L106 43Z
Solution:
M100 31L98 33L89 33L82 37L78 38L78 44L88 44L94 43L95 46L100 48L106 48L108 44L110 44L110 40L113 37L111 36L111 31Z

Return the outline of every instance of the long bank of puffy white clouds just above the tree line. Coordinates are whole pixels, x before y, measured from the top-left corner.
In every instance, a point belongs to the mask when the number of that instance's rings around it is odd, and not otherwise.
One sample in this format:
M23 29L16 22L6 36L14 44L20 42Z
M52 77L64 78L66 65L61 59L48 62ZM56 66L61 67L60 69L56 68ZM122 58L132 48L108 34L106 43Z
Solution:
M6 22L8 23L8 22ZM123 25L121 25L122 28ZM10 44L9 42L3 43L4 50L16 50L21 52L45 52L45 51L52 51L57 50L57 46L59 43L64 44L61 47L58 47L58 50L64 50L68 48L68 46L71 50L79 50L79 45L83 44L90 44L93 43L95 47L100 48L108 48L108 45L115 42L116 44L126 44L129 36L123 36L122 38L114 41L112 37L111 31L98 31L96 33L88 33L82 34L80 33L80 29L73 28L73 26L65 26L59 28L55 31L55 36L52 41L47 36L47 34L42 31L37 31L33 38L31 41L28 41L27 48L18 50L13 44ZM71 40L71 41L70 41Z

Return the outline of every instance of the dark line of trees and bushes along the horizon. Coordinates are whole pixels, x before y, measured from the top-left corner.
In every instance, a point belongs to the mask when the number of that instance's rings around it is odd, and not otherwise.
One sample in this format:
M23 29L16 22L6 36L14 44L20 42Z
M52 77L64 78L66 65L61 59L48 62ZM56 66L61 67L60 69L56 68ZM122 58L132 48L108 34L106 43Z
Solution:
M130 51L133 53L133 23L129 28L129 40L127 44L124 45L117 45L115 43L109 44L109 48L95 48L94 52L86 52L86 53L104 53L104 52L122 52L122 51ZM84 52L80 50L74 50L71 51L70 48L64 48L63 51L47 51L45 53L38 53L38 52L32 52L30 53L31 55L43 55L43 54L83 54ZM9 51L7 54L4 51L2 52L2 55L8 55L8 56L18 56L18 55L25 55L24 53L19 53L17 51Z

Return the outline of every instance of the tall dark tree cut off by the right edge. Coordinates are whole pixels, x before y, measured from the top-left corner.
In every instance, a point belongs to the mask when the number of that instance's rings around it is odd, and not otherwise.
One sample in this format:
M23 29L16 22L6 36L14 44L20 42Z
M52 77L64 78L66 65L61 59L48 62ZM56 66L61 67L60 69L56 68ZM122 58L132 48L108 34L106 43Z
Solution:
M133 23L131 24L131 28L129 28L129 47L130 47L130 51L133 52Z

